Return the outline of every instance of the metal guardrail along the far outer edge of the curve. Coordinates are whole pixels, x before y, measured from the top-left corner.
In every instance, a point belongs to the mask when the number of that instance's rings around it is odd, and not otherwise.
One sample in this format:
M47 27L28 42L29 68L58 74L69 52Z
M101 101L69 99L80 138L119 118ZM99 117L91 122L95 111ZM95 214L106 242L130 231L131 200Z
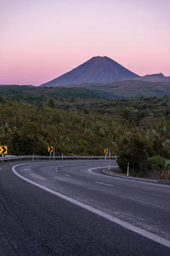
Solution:
M49 160L69 160L69 159L116 159L117 157L105 157L105 156L7 156L7 157L0 157L0 161L8 161L8 160L22 160L22 159L32 159L34 161L34 159L49 159Z

